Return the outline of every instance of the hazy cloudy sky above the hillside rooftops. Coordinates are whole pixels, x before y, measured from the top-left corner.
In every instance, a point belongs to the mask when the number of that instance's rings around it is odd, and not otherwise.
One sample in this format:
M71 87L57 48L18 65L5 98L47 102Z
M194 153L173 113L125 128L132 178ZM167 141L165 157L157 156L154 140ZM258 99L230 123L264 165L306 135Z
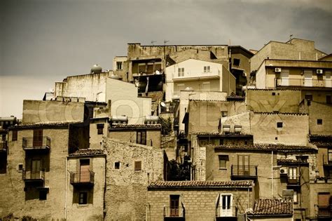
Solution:
M260 49L289 34L332 53L332 0L1 0L0 116L66 76L112 69L128 42Z

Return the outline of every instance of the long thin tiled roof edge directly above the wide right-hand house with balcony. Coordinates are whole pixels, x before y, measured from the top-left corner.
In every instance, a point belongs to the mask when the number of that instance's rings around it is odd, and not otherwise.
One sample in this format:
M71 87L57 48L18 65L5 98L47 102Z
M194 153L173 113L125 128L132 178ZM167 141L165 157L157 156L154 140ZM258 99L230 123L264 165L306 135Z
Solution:
M300 152L317 151L316 147L296 146L296 145L272 145L272 144L254 144L254 145L219 145L214 149L220 150L257 150L257 151L279 151L279 152Z

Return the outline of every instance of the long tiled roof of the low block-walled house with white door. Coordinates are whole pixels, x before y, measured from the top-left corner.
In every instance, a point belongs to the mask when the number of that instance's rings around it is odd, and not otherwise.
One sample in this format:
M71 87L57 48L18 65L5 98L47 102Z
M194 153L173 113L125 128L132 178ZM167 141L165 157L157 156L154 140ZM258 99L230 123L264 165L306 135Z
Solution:
M239 181L156 181L148 185L149 188L178 188L178 187L223 187L223 188L247 188L252 187L252 180Z

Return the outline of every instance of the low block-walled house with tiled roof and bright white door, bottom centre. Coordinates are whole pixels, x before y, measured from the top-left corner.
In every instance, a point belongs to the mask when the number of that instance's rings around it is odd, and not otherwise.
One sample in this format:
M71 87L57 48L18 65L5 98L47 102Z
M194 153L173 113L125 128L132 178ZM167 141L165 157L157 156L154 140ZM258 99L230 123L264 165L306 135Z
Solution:
M254 183L164 181L148 185L146 220L237 220L254 203Z

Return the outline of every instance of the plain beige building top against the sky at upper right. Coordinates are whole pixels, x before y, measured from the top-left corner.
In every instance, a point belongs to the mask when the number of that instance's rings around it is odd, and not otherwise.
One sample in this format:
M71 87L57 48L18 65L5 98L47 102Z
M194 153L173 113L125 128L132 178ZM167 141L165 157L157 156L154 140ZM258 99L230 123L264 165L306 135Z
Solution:
M314 41L291 39L290 41L270 41L250 59L251 72L258 69L263 60L319 60L326 53L314 48Z

